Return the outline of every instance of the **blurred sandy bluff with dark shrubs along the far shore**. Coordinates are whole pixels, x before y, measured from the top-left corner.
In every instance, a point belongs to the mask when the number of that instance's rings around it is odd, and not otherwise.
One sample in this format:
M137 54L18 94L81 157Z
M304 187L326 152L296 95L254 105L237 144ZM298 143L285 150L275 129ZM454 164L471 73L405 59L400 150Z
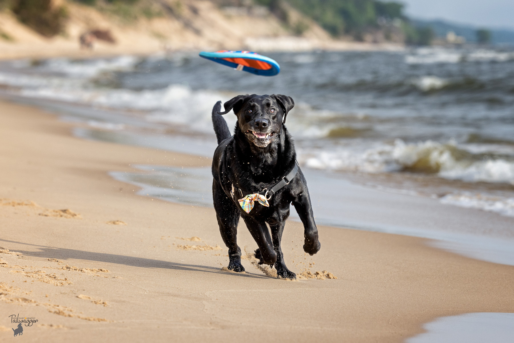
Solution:
M177 50L398 49L333 37L289 3L248 0L0 0L0 59ZM79 44L80 42L80 44Z

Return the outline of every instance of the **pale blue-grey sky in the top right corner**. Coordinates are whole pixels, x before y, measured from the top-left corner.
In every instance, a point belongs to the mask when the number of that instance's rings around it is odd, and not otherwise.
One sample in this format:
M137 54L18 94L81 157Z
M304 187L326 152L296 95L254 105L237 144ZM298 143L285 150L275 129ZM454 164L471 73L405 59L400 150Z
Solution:
M417 19L514 29L514 0L399 0Z

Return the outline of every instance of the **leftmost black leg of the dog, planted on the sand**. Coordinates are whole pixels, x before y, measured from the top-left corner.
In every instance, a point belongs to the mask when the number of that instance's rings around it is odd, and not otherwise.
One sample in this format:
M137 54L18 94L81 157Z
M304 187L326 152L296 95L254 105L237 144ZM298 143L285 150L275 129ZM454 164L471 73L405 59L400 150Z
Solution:
M228 248L228 258L230 260L228 268L234 272L244 272L245 268L241 264L241 248L237 246L239 209L235 207L216 180L213 180L212 183L212 195L219 232L222 234L223 242Z

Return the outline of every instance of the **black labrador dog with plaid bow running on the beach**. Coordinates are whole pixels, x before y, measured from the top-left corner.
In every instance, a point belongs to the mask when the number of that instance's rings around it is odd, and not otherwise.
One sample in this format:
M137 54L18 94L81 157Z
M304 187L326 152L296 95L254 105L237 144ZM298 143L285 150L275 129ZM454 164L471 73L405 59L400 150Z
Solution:
M239 95L212 109L218 147L212 160L212 196L219 231L228 247L228 268L243 272L236 234L239 217L259 246L260 264L274 265L278 277L296 279L287 269L280 241L292 203L302 220L310 255L321 248L307 183L296 161L295 146L284 125L295 102L285 95ZM237 116L234 135L222 117ZM271 228L271 237L268 227Z

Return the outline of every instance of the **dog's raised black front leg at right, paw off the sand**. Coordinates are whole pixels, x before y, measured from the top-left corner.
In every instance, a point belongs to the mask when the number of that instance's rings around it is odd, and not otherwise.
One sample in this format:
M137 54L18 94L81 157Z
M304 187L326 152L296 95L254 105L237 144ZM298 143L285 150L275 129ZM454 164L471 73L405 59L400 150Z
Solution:
M303 236L305 237L305 242L303 251L307 252L309 255L314 255L321 249L321 243L318 240L318 228L314 222L313 205L310 203L307 187L293 200L292 204L295 206L304 227Z

